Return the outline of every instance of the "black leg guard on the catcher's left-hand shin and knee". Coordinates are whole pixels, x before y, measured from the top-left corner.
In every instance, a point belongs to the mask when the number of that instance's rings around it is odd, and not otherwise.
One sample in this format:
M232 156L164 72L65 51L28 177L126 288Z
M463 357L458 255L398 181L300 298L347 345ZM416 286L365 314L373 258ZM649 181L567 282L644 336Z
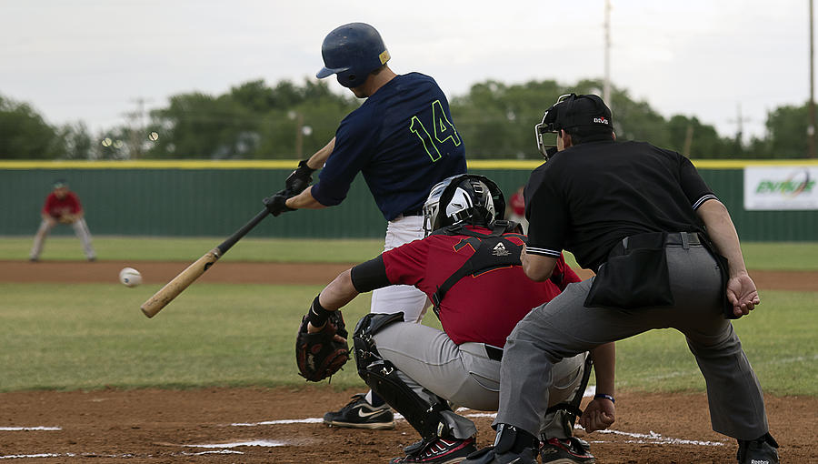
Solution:
M389 406L400 412L421 437L448 437L451 430L441 414L443 410L451 410L448 403L438 398L430 404L428 400L421 398L400 378L394 364L381 358L374 344L372 336L375 333L389 324L403 320L404 313L367 314L358 322L353 335L358 375Z

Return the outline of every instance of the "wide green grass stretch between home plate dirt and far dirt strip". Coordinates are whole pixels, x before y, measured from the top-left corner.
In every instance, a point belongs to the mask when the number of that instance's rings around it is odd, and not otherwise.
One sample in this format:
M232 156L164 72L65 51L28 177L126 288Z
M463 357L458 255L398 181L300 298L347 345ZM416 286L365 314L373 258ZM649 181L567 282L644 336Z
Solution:
M321 287L200 283L155 318L139 305L159 286L0 284L0 391L303 385L294 333ZM818 292L765 291L735 329L776 395L818 395ZM344 308L350 328L369 310ZM433 314L426 324L436 325ZM653 331L617 344L617 386L703 391L683 337ZM593 378L592 378L593 381ZM364 388L354 361L332 380Z

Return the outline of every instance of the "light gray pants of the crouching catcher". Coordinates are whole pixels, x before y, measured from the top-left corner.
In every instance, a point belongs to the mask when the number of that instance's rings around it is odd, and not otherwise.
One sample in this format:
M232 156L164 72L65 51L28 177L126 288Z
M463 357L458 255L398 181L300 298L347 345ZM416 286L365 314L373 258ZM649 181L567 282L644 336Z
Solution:
M429 406L438 402L436 395L455 406L497 410L500 361L488 357L483 343L456 345L445 332L411 322L390 324L374 334L374 342L381 356L394 364L400 378ZM535 393L544 404L574 398L582 383L586 356L580 353L554 365L550 391L541 388ZM443 415L454 438L467 439L477 432L472 420L452 411L443 411ZM548 438L566 439L571 433L563 411L546 417L543 410L538 418L534 430Z

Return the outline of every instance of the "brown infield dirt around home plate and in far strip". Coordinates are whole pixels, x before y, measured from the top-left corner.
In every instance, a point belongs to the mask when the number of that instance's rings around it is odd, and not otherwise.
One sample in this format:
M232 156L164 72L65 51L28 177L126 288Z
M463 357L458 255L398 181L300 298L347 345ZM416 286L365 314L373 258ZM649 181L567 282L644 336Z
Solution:
M135 267L145 283L165 283L185 263L0 261L2 282L116 282ZM212 282L324 284L347 265L222 262ZM70 272L66 272L70 268ZM815 291L809 272L752 272L759 287ZM362 383L363 388L363 383ZM404 421L394 430L330 429L320 418L356 391L304 388L104 389L0 394L0 459L10 462L370 463L403 455L418 437ZM584 434L599 463L735 462L733 439L713 432L703 393L620 391L607 433ZM818 398L766 397L782 462L818 462ZM477 413L465 411L464 413ZM277 421L277 422L276 422ZM474 418L478 446L491 444L490 417ZM244 424L244 425L237 425Z

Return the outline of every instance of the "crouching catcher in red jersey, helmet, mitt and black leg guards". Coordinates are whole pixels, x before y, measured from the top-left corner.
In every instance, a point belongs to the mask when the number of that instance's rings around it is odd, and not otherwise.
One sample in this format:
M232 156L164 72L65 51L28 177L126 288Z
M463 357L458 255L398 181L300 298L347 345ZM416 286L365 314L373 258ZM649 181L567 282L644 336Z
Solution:
M505 338L531 308L580 281L562 258L548 281L526 278L520 261L526 237L516 223L495 220L503 217L504 207L502 192L485 177L444 179L425 202L424 239L344 271L304 317L298 366L305 378L319 380L348 358L338 309L359 293L404 284L434 302L444 331L404 322L400 313L368 314L354 330L358 374L421 436L393 463L452 463L473 452L477 429L451 405L496 410ZM591 356L598 390L611 395L613 354L609 344ZM581 414L580 424L588 431L613 423L598 399L584 413L578 409L590 366L588 353L581 353L554 370L548 394L552 408L540 428L544 462L594 462L587 443L572 436L574 420Z

